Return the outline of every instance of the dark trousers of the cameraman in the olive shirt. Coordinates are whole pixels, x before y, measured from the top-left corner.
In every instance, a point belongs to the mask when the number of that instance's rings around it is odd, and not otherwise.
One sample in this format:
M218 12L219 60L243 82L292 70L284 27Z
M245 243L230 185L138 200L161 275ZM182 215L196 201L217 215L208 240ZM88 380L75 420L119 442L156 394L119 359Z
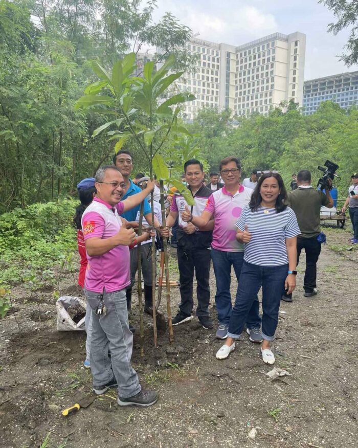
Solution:
M311 293L316 288L317 261L321 253L321 243L317 236L312 238L297 238L297 265L300 261L302 249L306 252L306 271L304 273L303 287L306 293ZM287 297L291 297L292 294Z

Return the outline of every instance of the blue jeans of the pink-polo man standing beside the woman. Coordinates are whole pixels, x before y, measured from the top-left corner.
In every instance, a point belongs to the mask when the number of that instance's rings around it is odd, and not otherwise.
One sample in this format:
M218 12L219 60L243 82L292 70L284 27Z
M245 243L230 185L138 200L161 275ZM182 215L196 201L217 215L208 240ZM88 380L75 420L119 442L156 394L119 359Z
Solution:
M217 318L220 324L229 325L233 310L230 294L231 266L234 267L236 279L239 281L243 263L243 252L224 252L218 251L217 249L212 249L211 258L213 260L216 279L215 304ZM252 302L252 306L247 317L248 328L260 328L261 318L259 307L260 303L256 293L256 297Z

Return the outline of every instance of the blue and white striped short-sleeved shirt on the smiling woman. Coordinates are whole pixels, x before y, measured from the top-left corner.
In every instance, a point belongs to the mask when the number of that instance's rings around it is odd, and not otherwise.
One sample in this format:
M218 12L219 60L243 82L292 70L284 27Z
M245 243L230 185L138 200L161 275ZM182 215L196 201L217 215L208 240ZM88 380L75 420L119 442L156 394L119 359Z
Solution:
M295 212L287 207L280 213L275 209L259 206L252 212L246 206L236 221L236 227L244 231L248 226L251 241L244 245L243 259L259 266L281 266L288 263L286 238L301 233Z

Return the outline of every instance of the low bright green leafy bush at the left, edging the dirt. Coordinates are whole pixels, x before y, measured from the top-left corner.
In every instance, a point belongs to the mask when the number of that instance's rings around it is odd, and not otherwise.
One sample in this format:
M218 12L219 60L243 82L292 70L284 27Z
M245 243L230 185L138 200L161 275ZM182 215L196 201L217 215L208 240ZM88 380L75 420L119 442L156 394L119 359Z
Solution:
M0 284L32 289L54 281L53 268L76 252L77 202L33 204L0 216Z

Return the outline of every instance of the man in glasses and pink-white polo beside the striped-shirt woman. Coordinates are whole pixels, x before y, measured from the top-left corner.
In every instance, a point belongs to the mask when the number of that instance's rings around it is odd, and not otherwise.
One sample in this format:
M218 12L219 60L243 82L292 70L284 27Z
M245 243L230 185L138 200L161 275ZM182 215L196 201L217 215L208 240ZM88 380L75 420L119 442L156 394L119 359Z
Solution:
M192 216L187 209L182 216L183 220L191 221L197 227L206 226L209 220L214 218L211 259L216 279L215 303L219 320L216 338L226 339L232 313L231 267L233 266L236 279L239 281L244 253L243 244L236 240L235 222L242 209L249 204L253 190L239 184L241 165L234 156L222 159L220 174L225 186L209 197L202 215L200 217ZM262 341L260 326L259 301L256 298L247 322L252 342Z

